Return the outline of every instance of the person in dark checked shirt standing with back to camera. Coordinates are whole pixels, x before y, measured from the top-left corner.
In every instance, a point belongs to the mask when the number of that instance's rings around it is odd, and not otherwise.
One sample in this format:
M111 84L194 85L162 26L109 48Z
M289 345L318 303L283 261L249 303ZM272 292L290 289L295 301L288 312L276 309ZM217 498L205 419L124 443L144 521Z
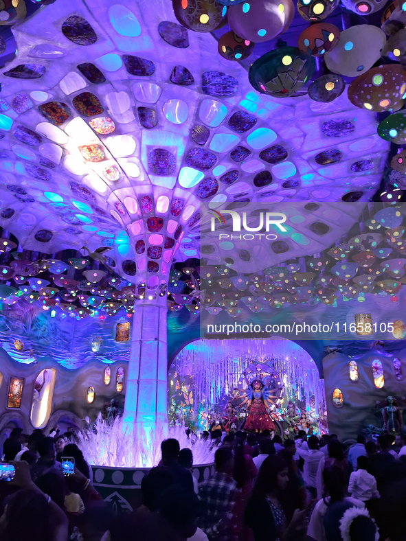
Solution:
M210 541L237 541L236 501L240 497L232 478L234 457L232 449L221 447L214 455L216 473L199 487L201 516L198 525Z

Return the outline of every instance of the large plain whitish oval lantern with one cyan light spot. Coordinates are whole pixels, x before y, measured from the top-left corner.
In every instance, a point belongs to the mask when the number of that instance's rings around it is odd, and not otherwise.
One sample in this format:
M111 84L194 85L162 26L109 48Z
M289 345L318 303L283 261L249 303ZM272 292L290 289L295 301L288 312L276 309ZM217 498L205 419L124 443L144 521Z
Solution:
M381 58L386 43L382 30L373 25L359 25L343 30L339 42L326 52L324 61L333 73L357 77L368 71Z

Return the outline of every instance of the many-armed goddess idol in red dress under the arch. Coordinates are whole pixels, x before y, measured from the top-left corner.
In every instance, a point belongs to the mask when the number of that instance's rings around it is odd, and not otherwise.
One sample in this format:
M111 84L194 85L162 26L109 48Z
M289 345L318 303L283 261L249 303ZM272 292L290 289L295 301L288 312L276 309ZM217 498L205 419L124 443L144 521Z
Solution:
M280 376L267 365L250 365L238 380L234 389L234 403L246 413L243 430L262 432L278 430L280 414L276 404L282 395Z

